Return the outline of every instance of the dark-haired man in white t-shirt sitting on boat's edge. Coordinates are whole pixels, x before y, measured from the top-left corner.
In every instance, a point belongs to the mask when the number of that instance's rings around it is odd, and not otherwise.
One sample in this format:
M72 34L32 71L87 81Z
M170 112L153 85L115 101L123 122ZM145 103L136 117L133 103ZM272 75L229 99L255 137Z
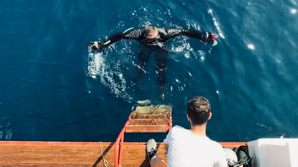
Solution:
M206 136L207 121L211 118L209 101L195 96L187 103L187 119L190 129L174 126L164 139L168 163L157 156L154 139L147 144L151 167L228 167L221 144Z

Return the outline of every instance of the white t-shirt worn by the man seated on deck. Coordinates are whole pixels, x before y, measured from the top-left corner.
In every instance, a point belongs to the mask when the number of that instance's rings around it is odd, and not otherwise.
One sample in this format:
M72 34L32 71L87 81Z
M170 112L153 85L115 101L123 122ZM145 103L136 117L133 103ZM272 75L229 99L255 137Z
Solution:
M174 126L164 139L169 145L167 167L226 167L222 146L208 137L197 136Z

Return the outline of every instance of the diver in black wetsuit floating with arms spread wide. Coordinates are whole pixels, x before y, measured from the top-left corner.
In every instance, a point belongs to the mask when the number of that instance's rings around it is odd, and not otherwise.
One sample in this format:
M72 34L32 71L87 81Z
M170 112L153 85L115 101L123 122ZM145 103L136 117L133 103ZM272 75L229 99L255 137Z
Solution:
M141 42L138 52L137 63L137 76L134 78L134 82L139 81L146 63L153 51L156 51L156 67L157 67L157 84L160 86L159 96L164 99L165 86L165 72L167 67L167 57L169 52L160 47L160 43L166 42L170 38L177 37L179 35L186 35L201 40L203 43L210 43L216 40L216 36L210 32L198 32L195 30L176 29L169 27L161 27L154 25L147 25L140 29L130 28L124 32L116 33L111 37L108 37L103 42L92 42L89 44L92 50L105 49L108 45L123 39L133 39Z

